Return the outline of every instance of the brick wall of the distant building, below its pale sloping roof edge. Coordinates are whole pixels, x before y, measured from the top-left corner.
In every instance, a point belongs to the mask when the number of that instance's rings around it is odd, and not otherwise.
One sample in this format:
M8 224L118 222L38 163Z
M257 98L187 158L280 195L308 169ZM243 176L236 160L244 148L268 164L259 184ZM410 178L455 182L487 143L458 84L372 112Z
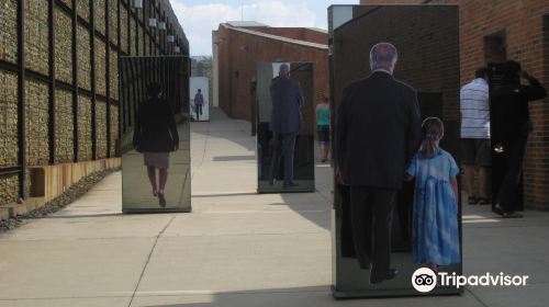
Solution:
M273 31L273 30L271 30ZM283 30L288 31L288 30ZM298 32L301 30L298 30ZM295 34L301 35L301 34ZM220 106L235 118L251 121L251 82L258 62L285 61L313 62L314 104L328 91L328 56L325 49L291 44L259 34L242 33L221 25L219 43Z

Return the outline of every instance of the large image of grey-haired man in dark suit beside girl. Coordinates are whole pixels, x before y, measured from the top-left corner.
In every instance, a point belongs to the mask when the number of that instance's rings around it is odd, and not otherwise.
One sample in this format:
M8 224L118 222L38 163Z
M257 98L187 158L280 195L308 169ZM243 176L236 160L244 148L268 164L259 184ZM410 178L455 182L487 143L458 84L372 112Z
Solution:
M399 274L391 269L393 207L421 141L417 94L392 77L396 59L392 44L374 45L371 75L344 89L337 112L337 172L350 190L355 250L360 269L371 263L372 284Z

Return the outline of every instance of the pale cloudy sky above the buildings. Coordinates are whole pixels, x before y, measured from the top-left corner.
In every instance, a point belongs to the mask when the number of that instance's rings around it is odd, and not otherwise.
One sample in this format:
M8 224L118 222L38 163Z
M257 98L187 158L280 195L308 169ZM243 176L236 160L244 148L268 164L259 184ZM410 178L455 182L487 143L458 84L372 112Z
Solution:
M212 31L226 21L257 21L271 26L327 29L327 8L359 0L170 0L189 38L191 56L212 55Z

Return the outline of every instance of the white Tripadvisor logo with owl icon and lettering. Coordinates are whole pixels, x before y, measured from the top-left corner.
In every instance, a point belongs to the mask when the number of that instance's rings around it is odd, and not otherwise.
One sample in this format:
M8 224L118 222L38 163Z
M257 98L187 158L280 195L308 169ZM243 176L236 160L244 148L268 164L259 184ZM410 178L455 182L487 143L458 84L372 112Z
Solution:
M439 272L438 275L427 268L417 269L412 275L412 285L417 292L432 292L437 284L440 286L463 287L463 286L526 286L528 275L506 275L503 272L493 275L457 275L456 273Z

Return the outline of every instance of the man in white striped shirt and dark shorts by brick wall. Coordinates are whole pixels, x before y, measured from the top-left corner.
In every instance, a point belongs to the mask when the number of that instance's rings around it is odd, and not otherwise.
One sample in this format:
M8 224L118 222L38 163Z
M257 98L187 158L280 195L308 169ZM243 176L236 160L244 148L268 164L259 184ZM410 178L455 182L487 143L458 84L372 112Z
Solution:
M470 205L488 205L488 170L490 168L490 96L486 68L479 68L475 79L460 91L461 148L464 183ZM474 179L477 178L477 184Z

